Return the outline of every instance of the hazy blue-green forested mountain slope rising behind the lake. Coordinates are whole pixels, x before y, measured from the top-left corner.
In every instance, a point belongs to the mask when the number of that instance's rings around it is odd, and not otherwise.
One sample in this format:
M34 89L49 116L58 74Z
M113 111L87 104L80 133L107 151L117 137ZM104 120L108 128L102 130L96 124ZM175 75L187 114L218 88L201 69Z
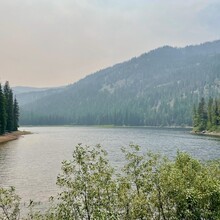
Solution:
M22 124L169 126L191 125L193 105L219 94L220 40L164 46L19 103Z

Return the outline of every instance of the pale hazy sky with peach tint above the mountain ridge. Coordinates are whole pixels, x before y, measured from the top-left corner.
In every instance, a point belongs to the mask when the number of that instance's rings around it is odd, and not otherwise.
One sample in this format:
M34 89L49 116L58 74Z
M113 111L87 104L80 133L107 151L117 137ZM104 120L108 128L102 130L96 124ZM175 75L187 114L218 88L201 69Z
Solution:
M0 81L59 86L151 49L220 39L220 0L0 0Z

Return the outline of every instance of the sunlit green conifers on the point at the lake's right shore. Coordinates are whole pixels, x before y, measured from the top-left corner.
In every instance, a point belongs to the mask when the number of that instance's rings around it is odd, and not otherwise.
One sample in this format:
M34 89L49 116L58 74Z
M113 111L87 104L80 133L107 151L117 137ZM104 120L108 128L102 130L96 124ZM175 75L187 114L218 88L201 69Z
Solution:
M208 103L201 98L193 109L193 129L197 131L220 130L220 99L209 98Z

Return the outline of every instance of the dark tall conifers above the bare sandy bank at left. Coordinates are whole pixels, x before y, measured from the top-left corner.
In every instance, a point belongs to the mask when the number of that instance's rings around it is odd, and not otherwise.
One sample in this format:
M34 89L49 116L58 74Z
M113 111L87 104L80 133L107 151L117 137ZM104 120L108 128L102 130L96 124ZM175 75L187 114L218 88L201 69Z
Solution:
M18 130L19 106L7 81L0 83L0 135Z

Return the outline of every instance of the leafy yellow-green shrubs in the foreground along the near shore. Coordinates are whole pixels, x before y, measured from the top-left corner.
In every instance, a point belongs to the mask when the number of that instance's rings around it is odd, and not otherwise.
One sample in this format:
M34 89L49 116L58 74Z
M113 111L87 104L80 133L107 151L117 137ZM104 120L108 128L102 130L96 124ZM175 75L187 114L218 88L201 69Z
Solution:
M42 213L23 219L203 219L220 218L220 161L201 162L178 152L173 160L132 145L122 149L125 165L115 170L107 153L76 146L57 177L61 193ZM14 188L0 189L0 219L20 219Z

